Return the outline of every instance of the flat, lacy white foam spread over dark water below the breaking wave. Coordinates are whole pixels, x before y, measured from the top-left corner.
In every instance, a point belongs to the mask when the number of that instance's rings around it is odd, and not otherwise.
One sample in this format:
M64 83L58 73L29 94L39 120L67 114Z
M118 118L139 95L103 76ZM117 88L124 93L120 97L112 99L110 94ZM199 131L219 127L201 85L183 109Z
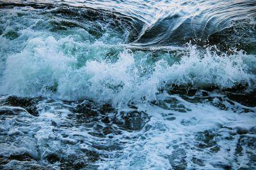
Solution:
M220 110L207 103L188 103L178 95L157 96L157 99L161 98L175 99L190 111L182 113L151 104L137 104L138 111L147 110L150 117L148 122L141 131L119 129L122 133L114 135L112 139L108 139L108 136L93 136L91 132L97 131L77 124L74 113L60 108L65 106L60 101L42 101L37 105L41 110L39 117L27 118L18 114L0 120L1 131L10 132L5 137L10 138L10 141L1 143L0 155L27 154L34 159L41 159L40 164L48 165L45 157L50 153L68 160L68 155L83 155L83 150L92 150L99 155L108 155L95 162L99 169L166 169L177 165L219 169L216 165L230 165L230 161L233 161L234 168L249 167L246 164L250 161L250 155L246 152L255 154L252 144L255 134L250 133L255 127L255 113L239 114ZM48 109L45 110L46 108ZM118 109L119 114L128 110L131 109ZM255 108L252 111L255 112ZM63 117L67 114L72 117ZM170 119L171 117L174 119ZM58 126L52 125L52 122ZM106 127L102 122L97 124ZM19 133L13 134L13 131ZM15 142L12 141L13 137ZM240 141L239 138L243 140ZM113 144L120 145L122 149L110 149ZM95 149L92 145L109 149ZM238 145L243 148L243 156L236 153ZM234 161L235 155L243 164ZM195 158L199 163L193 162ZM60 162L52 164L57 169L58 165Z

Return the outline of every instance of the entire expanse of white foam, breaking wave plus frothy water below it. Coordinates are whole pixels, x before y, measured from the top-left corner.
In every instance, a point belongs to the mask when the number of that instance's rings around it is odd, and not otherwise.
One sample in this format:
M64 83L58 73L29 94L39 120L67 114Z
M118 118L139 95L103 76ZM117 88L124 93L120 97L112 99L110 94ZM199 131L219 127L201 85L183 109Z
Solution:
M11 160L4 168L23 162L56 169L77 162L88 169L255 167L255 107L225 100L218 92L199 90L207 97L193 96L203 100L195 103L166 92L172 85L227 89L240 84L253 90L255 55L191 44L183 52L168 46L132 48L124 44L124 32L107 27L95 38L83 28L49 31L54 18L32 19L26 10L0 14L6 28L0 36L0 94L44 97L35 101L35 117L5 106L12 98L0 96L0 156L28 159ZM10 31L17 34L8 37ZM108 101L113 108L101 108Z

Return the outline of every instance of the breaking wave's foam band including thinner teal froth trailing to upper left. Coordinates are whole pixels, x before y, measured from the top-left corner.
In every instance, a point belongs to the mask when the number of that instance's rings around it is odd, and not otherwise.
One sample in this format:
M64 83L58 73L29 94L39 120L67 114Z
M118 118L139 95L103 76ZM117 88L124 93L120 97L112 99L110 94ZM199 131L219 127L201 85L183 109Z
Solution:
M31 19L26 10L38 18ZM255 55L187 45L179 57L171 51L154 58L151 51L129 50L131 46L122 44L127 32L116 32L108 24L99 24L105 29L100 38L83 28L51 32L58 20L26 10L14 8L2 17L8 22L2 23L6 29L0 36L0 94L126 103L152 101L169 85L255 88ZM17 37L10 40L10 31Z

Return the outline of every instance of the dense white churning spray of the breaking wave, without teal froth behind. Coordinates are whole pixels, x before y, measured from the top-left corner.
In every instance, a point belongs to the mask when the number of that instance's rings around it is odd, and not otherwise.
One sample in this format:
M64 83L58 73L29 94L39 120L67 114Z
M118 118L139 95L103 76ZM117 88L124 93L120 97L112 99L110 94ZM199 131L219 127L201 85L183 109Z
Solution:
M56 39L39 34L25 43L22 51L6 59L1 94L54 94L63 99L89 97L116 103L143 98L153 100L158 90L166 85L225 89L240 83L255 87L255 70L250 67L256 64L255 56L243 52L218 55L209 48L202 51L189 45L188 52L174 64L169 64L161 58L148 62L147 53L124 49L118 59L111 62L104 56L109 50L108 45L99 42L82 45L72 37ZM84 55L70 54L77 48L84 48ZM79 63L81 60L82 64Z

